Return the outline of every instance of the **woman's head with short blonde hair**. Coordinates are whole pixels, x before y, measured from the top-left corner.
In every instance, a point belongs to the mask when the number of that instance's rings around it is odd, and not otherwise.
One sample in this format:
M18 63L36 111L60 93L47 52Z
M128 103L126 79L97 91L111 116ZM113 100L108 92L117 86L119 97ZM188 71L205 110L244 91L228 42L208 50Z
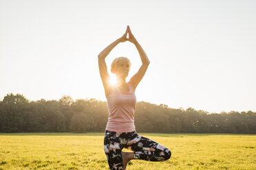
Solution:
M130 60L126 57L119 57L113 60L111 64L111 73L127 77L130 68L131 68Z

